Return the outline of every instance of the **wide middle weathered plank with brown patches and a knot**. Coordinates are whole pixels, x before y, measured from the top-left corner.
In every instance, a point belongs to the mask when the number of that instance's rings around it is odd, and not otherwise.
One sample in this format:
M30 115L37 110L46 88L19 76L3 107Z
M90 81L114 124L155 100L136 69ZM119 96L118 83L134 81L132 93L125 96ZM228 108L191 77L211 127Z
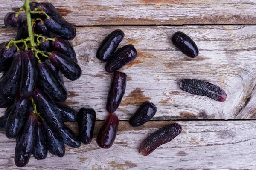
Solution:
M121 69L128 74L128 84L116 111L119 119L129 119L146 100L157 105L155 120L255 118L256 26L252 25L77 28L72 43L83 75L74 82L65 79L70 91L66 104L76 110L94 108L97 118L105 119L111 74L104 71L105 63L99 62L96 51L103 38L117 28L125 32L119 47L133 43L138 50L137 59ZM170 42L175 31L192 37L200 56L191 59L178 51ZM0 29L0 42L14 36L11 30ZM181 91L179 81L183 78L201 79L222 87L227 101L216 102Z

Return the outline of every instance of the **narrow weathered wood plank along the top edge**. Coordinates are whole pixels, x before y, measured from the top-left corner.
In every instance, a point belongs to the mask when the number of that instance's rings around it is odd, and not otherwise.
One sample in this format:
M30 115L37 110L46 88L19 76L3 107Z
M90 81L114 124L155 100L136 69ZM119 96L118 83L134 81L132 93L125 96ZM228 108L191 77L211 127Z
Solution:
M41 1L41 0L36 0ZM76 26L255 24L255 0L48 0ZM3 17L23 0L0 0Z

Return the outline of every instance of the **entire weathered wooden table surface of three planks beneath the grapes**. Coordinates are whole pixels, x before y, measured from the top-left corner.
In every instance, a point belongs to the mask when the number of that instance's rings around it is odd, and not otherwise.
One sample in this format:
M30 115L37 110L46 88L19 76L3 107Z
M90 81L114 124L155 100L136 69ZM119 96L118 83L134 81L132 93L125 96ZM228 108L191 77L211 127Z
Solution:
M83 70L80 79L64 79L65 102L76 110L96 110L93 142L78 149L66 147L63 158L31 158L28 170L251 170L256 169L256 0L49 0L73 23L72 41ZM0 42L12 40L15 30L4 28L3 17L23 1L0 0ZM108 115L106 97L112 75L96 58L100 42L115 29L134 44L137 59L121 71L128 84L113 146L100 149L96 135ZM186 57L172 45L176 31L188 34L200 55ZM222 87L226 102L181 91L183 78L201 79ZM138 106L150 100L158 111L153 120L133 128L128 124ZM0 110L4 113L4 109ZM171 123L182 133L149 156L138 153L151 133ZM67 123L77 132L76 123ZM0 134L0 169L16 170L15 140Z

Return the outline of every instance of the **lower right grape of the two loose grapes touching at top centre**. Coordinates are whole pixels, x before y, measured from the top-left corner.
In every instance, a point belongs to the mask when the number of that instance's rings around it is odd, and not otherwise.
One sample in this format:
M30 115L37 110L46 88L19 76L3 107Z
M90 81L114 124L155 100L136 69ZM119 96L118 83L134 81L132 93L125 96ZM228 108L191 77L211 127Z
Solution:
M133 45L125 45L119 48L105 65L105 71L111 73L132 62L137 57L137 51Z

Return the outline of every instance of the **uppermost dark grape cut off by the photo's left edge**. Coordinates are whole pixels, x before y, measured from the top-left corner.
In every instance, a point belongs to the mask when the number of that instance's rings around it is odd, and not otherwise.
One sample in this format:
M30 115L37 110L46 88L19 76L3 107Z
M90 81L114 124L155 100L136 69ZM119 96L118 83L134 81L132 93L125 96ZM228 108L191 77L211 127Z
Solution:
M6 48L9 42L4 42L0 48L0 72L7 71L12 65L13 54L16 48ZM14 46L14 45L13 45Z

